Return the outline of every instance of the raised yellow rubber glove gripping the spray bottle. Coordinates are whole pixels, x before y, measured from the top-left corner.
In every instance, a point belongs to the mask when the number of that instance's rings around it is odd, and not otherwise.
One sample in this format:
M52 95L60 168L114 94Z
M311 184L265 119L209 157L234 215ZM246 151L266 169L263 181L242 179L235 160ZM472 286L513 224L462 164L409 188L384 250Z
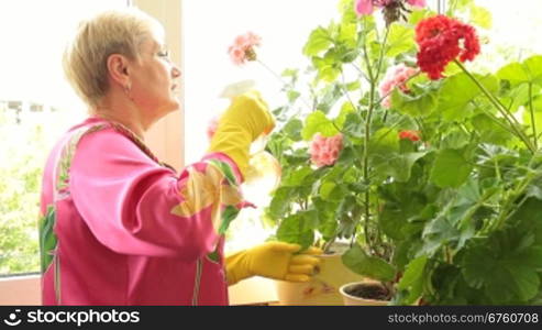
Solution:
M221 152L230 156L244 177L248 168L252 142L262 133L269 133L274 127L273 116L259 92L245 92L235 97L220 118L209 152Z

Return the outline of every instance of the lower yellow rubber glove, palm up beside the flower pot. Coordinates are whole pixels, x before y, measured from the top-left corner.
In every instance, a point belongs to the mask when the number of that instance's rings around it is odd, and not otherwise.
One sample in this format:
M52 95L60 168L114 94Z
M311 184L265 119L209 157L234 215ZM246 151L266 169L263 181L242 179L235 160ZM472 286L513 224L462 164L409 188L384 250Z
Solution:
M264 276L289 282L308 282L320 264L318 248L302 251L298 244L267 242L225 258L228 285L251 276Z

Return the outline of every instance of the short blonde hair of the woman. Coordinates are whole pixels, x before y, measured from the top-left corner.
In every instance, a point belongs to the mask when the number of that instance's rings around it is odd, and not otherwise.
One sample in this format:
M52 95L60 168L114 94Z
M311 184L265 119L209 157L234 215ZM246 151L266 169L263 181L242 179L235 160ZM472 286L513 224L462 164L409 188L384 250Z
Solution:
M152 32L164 33L157 20L134 8L82 21L63 56L64 73L79 97L96 107L109 90L108 57L139 59L141 44Z

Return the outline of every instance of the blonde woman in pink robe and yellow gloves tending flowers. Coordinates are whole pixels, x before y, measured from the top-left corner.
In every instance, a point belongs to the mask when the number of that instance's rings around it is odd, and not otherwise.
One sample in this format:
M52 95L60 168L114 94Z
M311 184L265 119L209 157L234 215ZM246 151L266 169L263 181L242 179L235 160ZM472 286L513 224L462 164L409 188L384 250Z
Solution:
M144 132L179 108L179 69L161 24L131 9L81 23L65 72L89 105L47 160L40 243L45 305L226 305L228 285L259 275L305 282L317 249L269 242L223 256L246 205L250 144L274 122L255 91L235 98L208 154L179 175Z

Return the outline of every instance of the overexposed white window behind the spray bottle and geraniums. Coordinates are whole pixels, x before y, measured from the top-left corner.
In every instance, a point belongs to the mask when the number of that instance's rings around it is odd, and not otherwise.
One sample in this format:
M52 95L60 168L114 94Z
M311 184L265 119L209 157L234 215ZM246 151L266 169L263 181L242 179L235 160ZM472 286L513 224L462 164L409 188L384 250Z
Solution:
M302 46L309 33L319 24L328 24L338 14L339 0L333 1L185 1L185 113L187 164L204 153L208 142L206 128L212 117L224 110L229 101L219 98L222 89L232 82L253 79L272 109L283 105L281 82L258 63L242 67L233 65L226 54L229 45L239 34L252 31L262 36L258 58L276 74L289 67L303 67ZM454 1L428 0L433 10L445 11ZM493 15L493 28L480 31L489 44L485 45L484 59L475 65L497 67L510 56L521 56L542 47L535 42L540 1L476 0L476 6ZM482 12L480 14L484 14ZM250 200L257 210L244 210L233 223L232 240L226 249L237 250L264 241L272 231L259 220L268 202L256 187L246 187ZM246 193L247 189L245 189Z

